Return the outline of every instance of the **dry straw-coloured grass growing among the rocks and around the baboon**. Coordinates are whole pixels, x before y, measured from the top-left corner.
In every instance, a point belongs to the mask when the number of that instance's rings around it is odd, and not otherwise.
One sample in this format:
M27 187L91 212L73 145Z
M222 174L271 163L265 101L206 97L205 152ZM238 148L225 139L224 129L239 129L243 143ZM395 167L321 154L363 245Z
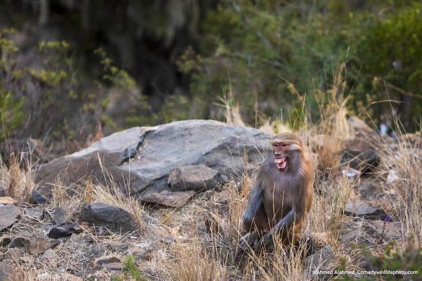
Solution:
M341 73L342 71L339 71ZM305 244L300 250L282 248L276 241L274 254L250 253L239 260L238 241L240 238L241 217L247 202L249 188L253 178L247 173L240 180L232 181L219 193L198 195L181 209L146 209L139 201L127 196L116 184L99 186L89 179L84 184L74 187L75 195L66 193L67 187L58 180L53 190L51 204L46 206L51 214L55 206L64 207L70 220L77 221L83 202L104 202L118 206L141 223L140 231L127 235L113 233L99 234L98 228L84 226L80 237L87 237L95 243L126 244L128 249L121 252L105 250L105 256L125 259L129 255L141 256L137 266L141 276L150 280L180 281L218 281L218 280L289 280L302 281L318 279L312 275L314 269L332 269L340 264L348 269L361 268L362 255L359 250L341 240L345 232L354 231L350 226L359 223L360 218L345 216L344 208L349 199L359 197L359 184L363 180L377 183L374 193L387 196L375 196L373 204L401 223L401 230L395 247L404 249L409 243L422 246L422 156L420 142L410 139L399 131L399 142L375 143L382 147L381 166L370 179L349 178L340 169L340 151L345 141L354 137L354 132L347 122L347 100L343 98L344 80L336 76L335 84L328 93L321 93L321 122L312 124L307 116L300 130L309 143L309 151L315 159L316 173L314 181L315 197L313 208L307 217L303 230L305 237L313 238L316 249L329 245L334 259L320 258L318 253L312 260L303 259ZM324 97L324 98L323 98ZM228 104L228 103L226 103ZM227 106L227 122L230 125L244 123L239 108ZM302 121L301 121L302 122ZM287 128L280 121L265 120L260 129L277 133ZM399 123L397 123L399 125ZM400 126L397 126L400 128ZM14 156L10 168L1 165L1 185L6 187L7 195L28 202L33 184L34 170L30 162L20 169L24 157ZM106 171L104 172L106 174ZM113 182L113 181L112 181ZM240 187L239 187L240 186ZM238 192L240 190L240 192ZM209 196L207 196L209 195ZM393 198L394 197L394 198ZM23 205L26 203L22 203ZM145 222L148 216L157 218L153 226ZM23 217L6 236L24 236L28 238L45 235L49 216L42 221ZM166 237L172 237L169 240ZM382 240L382 239L381 239ZM352 242L352 241L351 241ZM39 280L42 274L48 276L67 272L87 271L86 280L108 280L118 274L105 268L89 273L90 265L81 249L70 249L74 244L63 241L54 248L53 260L43 257L27 256L26 260L14 262L14 280ZM385 242L374 243L371 250L383 253ZM148 253L147 259L145 253ZM143 255L143 256L142 256ZM120 276L124 279L123 275ZM138 280L142 280L141 277Z

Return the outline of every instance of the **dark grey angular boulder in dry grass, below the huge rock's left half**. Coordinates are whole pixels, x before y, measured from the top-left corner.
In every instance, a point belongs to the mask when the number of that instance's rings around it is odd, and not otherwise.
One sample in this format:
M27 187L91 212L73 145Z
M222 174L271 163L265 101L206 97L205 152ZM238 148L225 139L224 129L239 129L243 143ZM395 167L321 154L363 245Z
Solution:
M127 211L104 203L84 204L81 220L121 233L140 228L135 218Z

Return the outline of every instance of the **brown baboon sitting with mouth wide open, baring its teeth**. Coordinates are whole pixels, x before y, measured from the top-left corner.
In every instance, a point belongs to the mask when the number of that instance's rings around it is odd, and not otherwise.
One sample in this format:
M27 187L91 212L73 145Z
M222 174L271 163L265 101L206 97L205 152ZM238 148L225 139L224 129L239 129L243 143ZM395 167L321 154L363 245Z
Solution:
M294 133L281 133L270 142L273 154L259 167L243 214L243 248L268 246L275 234L283 245L296 243L312 205L313 166L303 142Z

